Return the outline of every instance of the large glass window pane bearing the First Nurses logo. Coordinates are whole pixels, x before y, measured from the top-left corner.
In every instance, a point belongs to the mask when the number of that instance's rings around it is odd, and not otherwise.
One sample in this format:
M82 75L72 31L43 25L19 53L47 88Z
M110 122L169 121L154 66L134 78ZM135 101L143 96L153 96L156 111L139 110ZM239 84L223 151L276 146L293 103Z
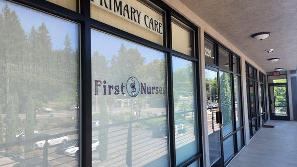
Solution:
M97 30L91 50L93 166L168 166L165 54Z

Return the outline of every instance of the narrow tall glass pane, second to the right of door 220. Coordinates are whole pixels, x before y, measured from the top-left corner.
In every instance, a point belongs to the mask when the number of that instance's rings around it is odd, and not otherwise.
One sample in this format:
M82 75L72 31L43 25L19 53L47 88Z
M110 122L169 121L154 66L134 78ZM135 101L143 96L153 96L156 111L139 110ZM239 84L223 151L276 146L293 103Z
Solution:
M234 95L235 95L235 121L236 128L242 125L242 116L241 116L241 95L240 95L240 77L234 76Z

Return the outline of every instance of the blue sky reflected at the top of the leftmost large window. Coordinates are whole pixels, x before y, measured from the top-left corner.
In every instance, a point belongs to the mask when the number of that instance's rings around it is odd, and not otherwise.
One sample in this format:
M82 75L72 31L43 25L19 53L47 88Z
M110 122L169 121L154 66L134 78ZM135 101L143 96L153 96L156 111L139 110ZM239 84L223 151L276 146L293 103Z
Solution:
M8 5L11 11L16 12L26 35L30 33L32 26L35 26L35 29L37 30L42 22L44 22L49 30L53 49L64 48L66 33L70 37L72 48L78 48L77 24L6 0L0 0L1 11L5 4Z

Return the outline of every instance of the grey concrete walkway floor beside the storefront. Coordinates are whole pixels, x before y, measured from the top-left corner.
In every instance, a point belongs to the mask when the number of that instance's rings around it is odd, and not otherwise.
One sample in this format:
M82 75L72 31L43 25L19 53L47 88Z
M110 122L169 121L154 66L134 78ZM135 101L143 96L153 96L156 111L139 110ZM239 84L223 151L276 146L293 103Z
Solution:
M297 122L269 121L228 167L297 167Z

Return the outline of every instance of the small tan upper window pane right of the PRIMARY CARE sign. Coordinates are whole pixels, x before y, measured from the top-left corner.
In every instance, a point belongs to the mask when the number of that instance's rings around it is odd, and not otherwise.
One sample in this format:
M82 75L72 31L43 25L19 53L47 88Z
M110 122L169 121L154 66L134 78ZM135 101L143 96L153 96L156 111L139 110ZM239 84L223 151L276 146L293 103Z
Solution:
M194 31L176 18L171 18L172 49L193 56Z

